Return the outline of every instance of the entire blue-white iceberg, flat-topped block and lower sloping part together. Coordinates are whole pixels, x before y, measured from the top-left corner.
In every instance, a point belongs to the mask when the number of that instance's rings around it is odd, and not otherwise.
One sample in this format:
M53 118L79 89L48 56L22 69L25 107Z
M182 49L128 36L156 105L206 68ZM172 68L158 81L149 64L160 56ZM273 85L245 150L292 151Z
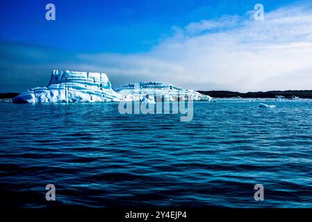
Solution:
M115 90L115 91L114 91ZM106 74L54 70L47 87L36 87L13 98L13 103L110 102L179 99L211 101L210 96L170 83L130 83L111 88Z

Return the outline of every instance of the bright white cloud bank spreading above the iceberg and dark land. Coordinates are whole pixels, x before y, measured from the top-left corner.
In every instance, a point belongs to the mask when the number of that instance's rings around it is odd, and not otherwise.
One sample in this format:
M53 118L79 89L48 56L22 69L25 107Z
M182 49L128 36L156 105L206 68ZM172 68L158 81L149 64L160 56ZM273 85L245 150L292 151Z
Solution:
M79 54L55 67L104 71L113 84L157 80L202 90L311 89L312 10L190 23L147 53Z

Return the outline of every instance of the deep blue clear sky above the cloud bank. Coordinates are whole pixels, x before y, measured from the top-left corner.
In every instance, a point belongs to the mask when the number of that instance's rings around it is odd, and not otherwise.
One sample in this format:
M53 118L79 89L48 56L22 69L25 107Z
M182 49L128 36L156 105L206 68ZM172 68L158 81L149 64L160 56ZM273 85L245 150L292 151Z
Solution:
M56 21L45 20L47 3ZM10 0L1 4L1 40L85 52L147 51L172 27L222 15L245 15L258 1L231 0ZM291 1L261 1L274 10Z

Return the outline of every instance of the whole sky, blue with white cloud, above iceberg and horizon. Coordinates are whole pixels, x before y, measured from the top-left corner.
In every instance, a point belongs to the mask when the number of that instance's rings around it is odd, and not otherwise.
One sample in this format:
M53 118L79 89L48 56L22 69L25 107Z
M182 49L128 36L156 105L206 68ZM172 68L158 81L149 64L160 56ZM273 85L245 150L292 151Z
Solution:
M0 27L0 92L46 86L54 69L104 72L113 85L312 89L311 1L6 0Z

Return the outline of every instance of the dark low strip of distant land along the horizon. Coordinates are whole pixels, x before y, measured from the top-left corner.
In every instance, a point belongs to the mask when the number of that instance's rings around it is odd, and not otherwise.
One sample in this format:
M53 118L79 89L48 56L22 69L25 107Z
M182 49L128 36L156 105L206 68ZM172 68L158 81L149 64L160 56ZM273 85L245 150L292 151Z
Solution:
M297 96L302 99L312 99L312 90L286 90L286 91L268 91L268 92L231 92L231 91L197 91L201 94L212 96L214 98L275 98L275 96ZM0 93L0 99L13 99L17 96L17 92Z

